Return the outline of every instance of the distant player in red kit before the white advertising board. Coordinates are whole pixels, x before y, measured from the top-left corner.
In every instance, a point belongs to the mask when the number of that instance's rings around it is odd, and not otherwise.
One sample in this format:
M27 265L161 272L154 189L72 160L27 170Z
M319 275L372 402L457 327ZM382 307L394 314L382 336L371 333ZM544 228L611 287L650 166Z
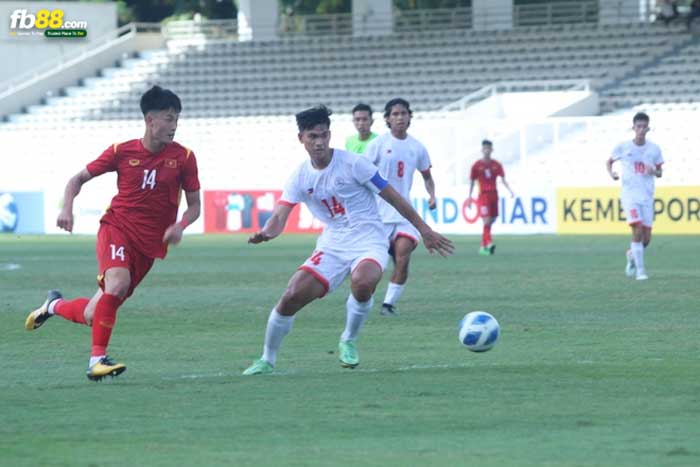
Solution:
M506 182L506 174L503 171L503 166L497 160L491 159L493 152L493 143L487 139L481 142L481 154L484 156L474 162L471 170L471 184L469 185L468 203L472 202L472 191L474 190L474 181L479 181L479 199L478 208L479 215L484 221L484 230L481 235L481 248L479 254L492 255L496 251L496 245L491 241L491 225L498 217L498 189L496 181L501 177L503 185L508 188L510 196L513 196L513 190Z

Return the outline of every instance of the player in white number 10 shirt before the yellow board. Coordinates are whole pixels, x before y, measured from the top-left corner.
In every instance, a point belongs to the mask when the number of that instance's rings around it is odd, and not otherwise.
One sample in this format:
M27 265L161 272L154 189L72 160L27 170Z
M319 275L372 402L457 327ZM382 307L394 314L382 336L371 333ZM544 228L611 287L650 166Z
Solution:
M627 251L628 277L646 280L644 268L644 248L651 242L651 227L654 222L654 178L663 174L664 163L661 149L648 141L649 116L637 113L632 119L634 139L618 144L608 159L608 173L617 180L619 176L613 171L613 163L622 164L622 191L620 201L625 210L627 223L632 228L632 242Z

